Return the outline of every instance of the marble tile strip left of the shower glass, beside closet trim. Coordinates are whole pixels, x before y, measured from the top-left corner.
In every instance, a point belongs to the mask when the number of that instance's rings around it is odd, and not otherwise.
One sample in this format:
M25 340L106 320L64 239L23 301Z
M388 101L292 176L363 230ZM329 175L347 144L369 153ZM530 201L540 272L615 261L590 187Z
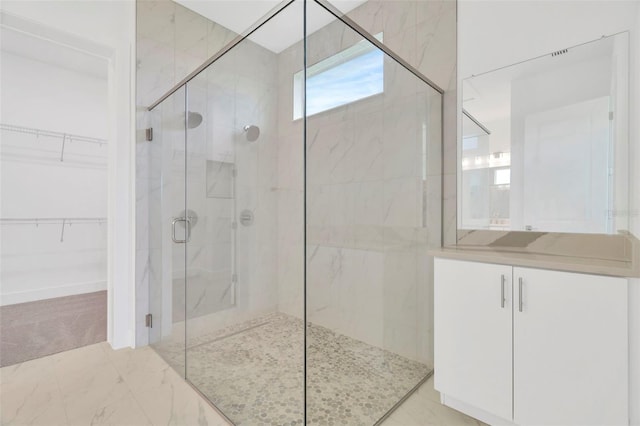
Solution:
M144 345L149 279L162 274L158 266L162 265L162 241L152 238L161 233L150 230L153 221L149 220L149 204L158 206L161 193L159 170L154 171L150 163L152 156L160 161L162 152L159 144L145 142L144 129L150 125L147 107L236 34L170 0L141 0L136 8L136 345Z

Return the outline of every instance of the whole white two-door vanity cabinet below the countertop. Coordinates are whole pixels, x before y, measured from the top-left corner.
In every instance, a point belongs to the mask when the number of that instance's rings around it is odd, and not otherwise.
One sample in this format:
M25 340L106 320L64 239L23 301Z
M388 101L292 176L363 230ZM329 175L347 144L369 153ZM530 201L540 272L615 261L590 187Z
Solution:
M435 260L435 387L490 423L626 425L625 278Z

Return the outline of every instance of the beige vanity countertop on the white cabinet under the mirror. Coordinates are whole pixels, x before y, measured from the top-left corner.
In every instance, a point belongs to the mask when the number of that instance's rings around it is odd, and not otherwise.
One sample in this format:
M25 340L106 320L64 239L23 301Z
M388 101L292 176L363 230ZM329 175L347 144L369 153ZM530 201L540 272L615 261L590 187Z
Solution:
M497 263L578 272L584 274L609 275L614 277L640 277L640 261L628 262L584 257L558 256L501 250L495 247L442 247L429 251L434 257L467 260L473 262Z

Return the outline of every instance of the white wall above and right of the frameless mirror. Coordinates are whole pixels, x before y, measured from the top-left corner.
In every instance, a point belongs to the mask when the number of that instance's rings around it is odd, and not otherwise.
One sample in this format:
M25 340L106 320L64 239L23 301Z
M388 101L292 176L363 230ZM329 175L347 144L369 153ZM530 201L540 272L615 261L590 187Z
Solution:
M458 6L460 78L602 35L631 31L630 230L640 237L640 6L638 1L480 1ZM630 419L640 424L640 280L630 280Z

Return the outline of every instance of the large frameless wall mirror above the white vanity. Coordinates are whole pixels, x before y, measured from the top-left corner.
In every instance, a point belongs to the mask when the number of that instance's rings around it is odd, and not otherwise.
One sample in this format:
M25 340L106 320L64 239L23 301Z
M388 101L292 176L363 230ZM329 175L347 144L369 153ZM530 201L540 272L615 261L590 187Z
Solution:
M628 38L463 80L458 229L628 228Z

